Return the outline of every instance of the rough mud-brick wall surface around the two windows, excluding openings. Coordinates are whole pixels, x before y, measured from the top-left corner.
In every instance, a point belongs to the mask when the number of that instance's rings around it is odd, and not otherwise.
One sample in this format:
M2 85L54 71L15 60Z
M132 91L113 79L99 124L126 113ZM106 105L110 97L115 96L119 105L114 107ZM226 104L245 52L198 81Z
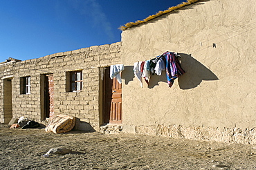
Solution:
M98 130L101 119L101 72L106 66L120 64L120 46L120 42L91 46L17 62L12 66L14 70L12 79L13 117L24 116L38 122L44 120L45 117L42 115L44 109L42 77L53 74L54 113L75 116L80 119L80 122L85 122L86 126ZM66 73L74 70L82 70L83 88L80 92L66 91L68 83ZM28 95L21 94L21 77L28 76L31 77L31 92ZM79 128L84 129L82 125Z

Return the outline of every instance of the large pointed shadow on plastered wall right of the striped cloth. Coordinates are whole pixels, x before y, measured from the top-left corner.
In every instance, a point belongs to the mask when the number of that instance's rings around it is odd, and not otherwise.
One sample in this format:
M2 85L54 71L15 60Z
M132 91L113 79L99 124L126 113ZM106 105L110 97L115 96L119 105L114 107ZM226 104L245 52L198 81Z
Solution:
M218 80L219 78L211 70L203 66L191 55L179 53L181 55L181 67L185 74L178 78L181 89L195 88L203 80Z

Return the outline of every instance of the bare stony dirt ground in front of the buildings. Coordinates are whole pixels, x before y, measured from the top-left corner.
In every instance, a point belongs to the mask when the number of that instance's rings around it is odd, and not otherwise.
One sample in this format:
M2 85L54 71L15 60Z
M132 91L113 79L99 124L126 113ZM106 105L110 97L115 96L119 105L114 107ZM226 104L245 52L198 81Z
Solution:
M256 169L256 147L181 138L44 129L0 124L0 169ZM53 147L78 153L42 155Z

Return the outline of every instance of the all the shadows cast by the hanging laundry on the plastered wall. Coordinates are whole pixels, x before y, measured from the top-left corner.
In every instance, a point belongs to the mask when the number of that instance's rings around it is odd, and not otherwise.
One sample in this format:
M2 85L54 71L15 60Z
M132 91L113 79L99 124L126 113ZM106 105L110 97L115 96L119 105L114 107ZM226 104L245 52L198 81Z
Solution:
M181 55L181 67L185 70L185 74L175 79L174 82L179 82L179 87L183 90L195 88L203 80L218 80L218 77L212 73L211 70L203 66L200 62L194 59L191 55L179 53ZM125 84L133 81L134 76L134 66L125 66L125 70L122 71L122 78L125 79ZM143 79L143 84L145 80ZM148 88L154 88L154 86L159 86L159 82L165 82L167 84L166 72L162 71L162 75L152 75L149 79ZM140 86L138 84L138 86ZM146 87L146 84L145 84Z

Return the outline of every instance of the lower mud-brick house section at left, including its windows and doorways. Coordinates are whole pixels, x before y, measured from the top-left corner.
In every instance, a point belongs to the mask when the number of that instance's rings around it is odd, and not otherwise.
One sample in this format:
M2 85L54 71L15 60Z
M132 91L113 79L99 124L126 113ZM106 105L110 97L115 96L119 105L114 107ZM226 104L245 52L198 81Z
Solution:
M64 114L79 119L76 129L99 130L109 123L102 115L103 108L109 109L102 106L109 87L103 83L104 73L109 73L109 65L120 63L120 46L117 42L1 63L1 123L21 116L43 122Z

